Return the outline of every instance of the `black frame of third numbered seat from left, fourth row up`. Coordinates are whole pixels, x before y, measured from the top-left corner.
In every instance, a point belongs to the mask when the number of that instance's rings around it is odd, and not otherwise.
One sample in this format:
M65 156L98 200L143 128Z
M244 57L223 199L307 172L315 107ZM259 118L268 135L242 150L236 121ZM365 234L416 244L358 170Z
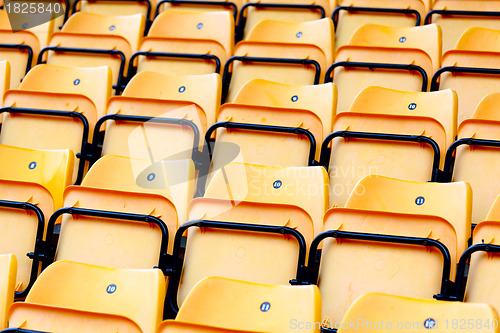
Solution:
M231 83L232 72L229 72L230 65L235 61L241 62L259 62L271 64L291 64L291 65L306 65L314 66L316 73L314 74L314 84L319 84L319 77L321 75L321 67L318 62L312 59L290 59L290 58L268 58L268 57L241 57L234 56L227 60L222 75L222 96L221 103L224 104L229 92L229 84Z

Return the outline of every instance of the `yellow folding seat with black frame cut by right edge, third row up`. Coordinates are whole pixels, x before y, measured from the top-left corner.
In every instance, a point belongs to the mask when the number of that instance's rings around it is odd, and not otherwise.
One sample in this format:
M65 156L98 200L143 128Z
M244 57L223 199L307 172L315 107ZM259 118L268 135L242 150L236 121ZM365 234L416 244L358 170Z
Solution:
M458 140L446 154L445 181L466 181L472 187L472 223L484 220L500 193L500 178L495 168L500 161L499 94L482 99L472 118L458 127Z

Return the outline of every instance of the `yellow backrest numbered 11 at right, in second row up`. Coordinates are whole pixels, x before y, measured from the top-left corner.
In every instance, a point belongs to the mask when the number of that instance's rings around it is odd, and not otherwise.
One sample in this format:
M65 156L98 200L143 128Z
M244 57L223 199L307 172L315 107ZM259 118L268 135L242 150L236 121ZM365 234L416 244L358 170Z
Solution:
M457 253L471 236L472 191L465 182L424 183L382 176L363 178L346 208L439 216L455 228Z

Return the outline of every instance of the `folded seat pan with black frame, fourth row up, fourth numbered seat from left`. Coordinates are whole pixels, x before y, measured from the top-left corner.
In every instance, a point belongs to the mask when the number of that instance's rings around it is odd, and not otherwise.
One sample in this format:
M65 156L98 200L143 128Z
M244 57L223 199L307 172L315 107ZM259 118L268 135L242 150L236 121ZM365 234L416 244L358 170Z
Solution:
M337 113L349 110L359 92L370 86L427 91L433 72L430 56L423 50L412 48L345 45L337 50L335 61L329 69L332 78L327 75L325 81L333 80L337 86ZM377 67L377 64L399 67L386 69Z

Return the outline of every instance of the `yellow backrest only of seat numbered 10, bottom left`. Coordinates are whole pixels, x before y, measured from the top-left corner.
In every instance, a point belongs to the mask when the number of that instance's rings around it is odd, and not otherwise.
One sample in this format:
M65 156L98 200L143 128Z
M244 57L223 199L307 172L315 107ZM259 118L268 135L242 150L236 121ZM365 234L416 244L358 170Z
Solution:
M159 269L117 269L70 261L47 267L26 303L128 317L154 332L163 315L165 278Z

